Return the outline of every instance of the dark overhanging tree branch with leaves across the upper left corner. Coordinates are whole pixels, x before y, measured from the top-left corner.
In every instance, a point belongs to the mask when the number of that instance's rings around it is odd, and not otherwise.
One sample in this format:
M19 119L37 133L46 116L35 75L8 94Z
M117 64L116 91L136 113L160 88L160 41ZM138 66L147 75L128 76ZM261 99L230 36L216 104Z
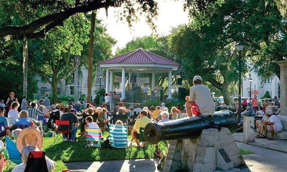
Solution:
M22 39L23 35L28 39L43 37L55 26L63 25L70 16L100 8L107 11L110 6L121 6L123 10L119 18L125 19L130 25L137 18L136 12L140 11L154 28L152 21L157 15L157 3L154 0L1 0L0 6L8 6L9 12L25 11L27 14L23 16L28 18L28 24L2 25L0 28L0 37L12 35L13 39ZM8 20L5 13L1 15ZM30 16L34 16L33 19L29 19Z

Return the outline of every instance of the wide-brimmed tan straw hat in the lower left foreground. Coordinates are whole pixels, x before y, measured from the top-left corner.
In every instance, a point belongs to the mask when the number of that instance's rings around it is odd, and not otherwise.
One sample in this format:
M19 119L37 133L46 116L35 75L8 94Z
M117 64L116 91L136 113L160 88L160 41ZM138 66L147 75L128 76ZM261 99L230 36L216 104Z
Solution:
M18 151L22 152L22 149L27 145L36 147L41 150L43 145L43 138L38 130L28 127L19 133L16 140L16 147Z

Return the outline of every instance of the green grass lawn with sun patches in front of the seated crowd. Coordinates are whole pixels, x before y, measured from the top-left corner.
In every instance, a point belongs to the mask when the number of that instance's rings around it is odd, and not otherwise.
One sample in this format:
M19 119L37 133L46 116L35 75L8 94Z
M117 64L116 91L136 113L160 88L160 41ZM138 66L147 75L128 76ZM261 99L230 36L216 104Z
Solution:
M79 131L78 131L79 132ZM107 138L108 132L104 132L102 138ZM131 136L128 136L131 139ZM55 172L61 172L67 169L64 163L70 162L87 162L87 161L110 161L110 160L129 160L129 159L147 159L154 158L154 154L151 151L154 146L148 144L150 149L138 149L131 147L127 149L98 149L98 148L85 148L86 142L80 139L79 142L62 142L59 141L53 144L53 138L43 138L42 150L46 152L46 156L56 162ZM167 152L167 148L164 144L160 145L161 149ZM254 154L253 152L240 149L242 155ZM12 168L4 170L4 172L10 172Z

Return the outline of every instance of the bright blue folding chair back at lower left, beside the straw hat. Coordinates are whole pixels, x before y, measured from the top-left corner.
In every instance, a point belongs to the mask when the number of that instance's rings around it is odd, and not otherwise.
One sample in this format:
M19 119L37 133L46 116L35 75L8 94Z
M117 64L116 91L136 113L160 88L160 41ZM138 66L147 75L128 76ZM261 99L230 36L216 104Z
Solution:
M4 157L8 159L8 163L12 166L22 163L21 154L16 147L16 143L13 142L8 136L6 136Z

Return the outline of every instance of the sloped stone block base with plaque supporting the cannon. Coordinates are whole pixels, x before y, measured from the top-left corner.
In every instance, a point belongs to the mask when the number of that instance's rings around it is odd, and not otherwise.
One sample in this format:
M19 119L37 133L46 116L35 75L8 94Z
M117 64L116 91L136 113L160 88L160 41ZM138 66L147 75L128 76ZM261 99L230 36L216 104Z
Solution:
M227 128L203 130L197 139L173 140L163 172L236 172L245 165Z

